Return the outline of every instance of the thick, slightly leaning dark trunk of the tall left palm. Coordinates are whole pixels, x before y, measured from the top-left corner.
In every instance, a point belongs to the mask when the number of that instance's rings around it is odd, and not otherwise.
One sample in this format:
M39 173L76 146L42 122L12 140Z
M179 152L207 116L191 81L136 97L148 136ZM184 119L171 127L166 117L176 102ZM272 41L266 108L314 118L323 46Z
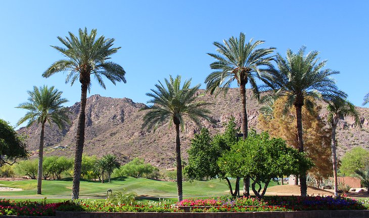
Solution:
M82 167L82 153L84 144L84 126L85 126L85 108L87 100L87 87L88 83L81 84L81 110L79 112L77 136L76 136L76 148L74 157L74 172L73 172L73 187L72 187L72 200L78 199L79 195L79 182L81 177Z

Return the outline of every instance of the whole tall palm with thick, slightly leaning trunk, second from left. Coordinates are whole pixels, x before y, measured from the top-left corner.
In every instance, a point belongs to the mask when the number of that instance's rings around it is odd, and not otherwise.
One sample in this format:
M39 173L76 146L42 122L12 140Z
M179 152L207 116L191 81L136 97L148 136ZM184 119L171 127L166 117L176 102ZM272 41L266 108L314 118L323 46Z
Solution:
M79 80L81 83L81 108L78 118L72 199L78 199L79 180L81 176L81 162L84 144L84 127L85 127L85 107L87 90L90 89L91 75L94 75L99 85L106 88L103 77L106 77L114 85L116 82L126 82L125 71L123 68L114 63L107 61L109 56L118 51L120 47L112 47L114 39L100 36L96 39L97 30L93 29L90 33L85 28L84 31L79 29L79 38L69 32L69 37L58 37L59 41L66 47L52 46L66 57L53 63L42 76L50 77L58 72L67 72L66 83L71 85Z

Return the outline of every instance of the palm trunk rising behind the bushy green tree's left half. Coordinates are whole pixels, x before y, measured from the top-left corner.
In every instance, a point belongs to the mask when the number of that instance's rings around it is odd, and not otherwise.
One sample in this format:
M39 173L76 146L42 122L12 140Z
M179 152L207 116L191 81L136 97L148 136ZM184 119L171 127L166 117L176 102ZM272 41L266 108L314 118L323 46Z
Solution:
M242 133L243 139L247 138L247 111L246 111L246 83L241 81L240 83L240 94L242 101ZM250 196L250 177L244 178L244 196Z

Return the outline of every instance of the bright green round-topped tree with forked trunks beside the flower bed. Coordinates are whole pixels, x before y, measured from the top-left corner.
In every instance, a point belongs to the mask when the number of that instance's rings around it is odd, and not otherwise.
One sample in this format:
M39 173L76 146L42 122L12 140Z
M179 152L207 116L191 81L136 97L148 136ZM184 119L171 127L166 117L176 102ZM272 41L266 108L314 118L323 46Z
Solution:
M272 179L306 171L313 163L304 153L288 147L285 140L269 138L266 132L259 135L252 131L249 137L233 144L230 150L218 159L218 165L220 170L225 172L225 176L251 177L255 196L262 198ZM265 185L260 193L261 183ZM256 184L259 185L258 190Z

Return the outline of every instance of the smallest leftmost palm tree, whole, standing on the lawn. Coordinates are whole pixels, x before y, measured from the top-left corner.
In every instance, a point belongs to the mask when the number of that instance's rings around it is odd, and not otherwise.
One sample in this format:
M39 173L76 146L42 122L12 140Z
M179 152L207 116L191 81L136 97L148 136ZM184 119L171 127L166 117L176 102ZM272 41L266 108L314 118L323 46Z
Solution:
M42 183L42 158L43 158L43 138L45 123L50 125L55 123L59 129L64 128L64 124L70 124L68 114L69 111L62 104L68 102L66 98L62 98L62 91L48 86L33 86L33 91L28 91L28 101L19 104L17 108L28 110L26 115L21 118L17 125L28 121L27 127L33 123L41 124L40 143L38 148L38 172L37 172L37 194L41 194Z

